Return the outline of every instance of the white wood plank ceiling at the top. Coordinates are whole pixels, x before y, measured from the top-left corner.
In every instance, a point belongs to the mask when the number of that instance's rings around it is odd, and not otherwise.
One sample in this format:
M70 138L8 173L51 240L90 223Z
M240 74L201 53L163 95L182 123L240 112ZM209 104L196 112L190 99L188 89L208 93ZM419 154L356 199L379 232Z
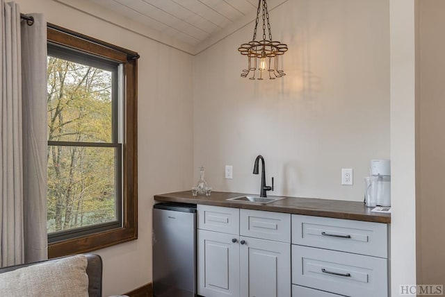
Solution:
M90 0L134 22L195 46L246 15L258 0ZM269 0L268 6L282 2Z

